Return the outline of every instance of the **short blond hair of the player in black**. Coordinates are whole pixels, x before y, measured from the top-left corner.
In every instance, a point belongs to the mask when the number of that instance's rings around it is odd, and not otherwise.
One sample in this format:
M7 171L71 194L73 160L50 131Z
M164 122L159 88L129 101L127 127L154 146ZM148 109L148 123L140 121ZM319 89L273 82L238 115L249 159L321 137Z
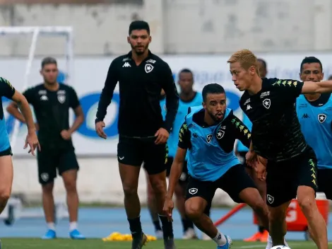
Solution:
M232 54L230 59L227 60L227 63L235 62L239 62L246 70L249 69L250 66L255 66L256 73L259 74L259 62L255 54L250 50L239 50Z

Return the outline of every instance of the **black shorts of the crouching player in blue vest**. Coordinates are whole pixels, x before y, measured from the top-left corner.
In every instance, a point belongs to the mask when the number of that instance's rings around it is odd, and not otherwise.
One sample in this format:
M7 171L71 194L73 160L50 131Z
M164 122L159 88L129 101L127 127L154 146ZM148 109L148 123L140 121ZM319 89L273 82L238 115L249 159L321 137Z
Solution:
M207 210L211 208L215 190L218 188L227 192L233 201L242 203L242 199L239 198L239 193L248 187L256 188L256 185L245 168L241 164L237 164L215 182L201 181L189 176L186 199L190 199L191 197L201 197L205 199L206 202L208 202Z

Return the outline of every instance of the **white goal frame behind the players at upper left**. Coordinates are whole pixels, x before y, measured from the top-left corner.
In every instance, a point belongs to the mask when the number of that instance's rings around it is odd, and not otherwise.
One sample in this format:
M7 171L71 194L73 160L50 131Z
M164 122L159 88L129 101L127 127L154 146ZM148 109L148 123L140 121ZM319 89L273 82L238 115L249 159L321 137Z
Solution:
M71 81L73 84L73 28L70 26L0 26L0 37L13 37L13 36L31 36L30 48L28 52L28 61L25 64L25 74L23 83L18 91L25 91L29 87L29 76L31 74L32 62L35 59L35 51L37 47L37 40L39 37L64 37L66 39L64 60L65 70L68 76L66 82ZM28 40L28 39L27 39ZM45 57L47 54L45 54ZM69 79L70 78L70 79ZM11 132L11 146L14 149L16 140L18 138L20 122L15 120L13 122Z

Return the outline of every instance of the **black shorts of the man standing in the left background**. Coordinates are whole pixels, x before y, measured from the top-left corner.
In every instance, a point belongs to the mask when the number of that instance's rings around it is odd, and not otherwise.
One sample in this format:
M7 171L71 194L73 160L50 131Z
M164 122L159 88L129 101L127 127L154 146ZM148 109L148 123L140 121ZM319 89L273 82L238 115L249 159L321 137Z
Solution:
M37 151L38 176L42 185L52 183L57 178L57 170L62 175L67 170L78 170L78 161L73 149L47 149Z

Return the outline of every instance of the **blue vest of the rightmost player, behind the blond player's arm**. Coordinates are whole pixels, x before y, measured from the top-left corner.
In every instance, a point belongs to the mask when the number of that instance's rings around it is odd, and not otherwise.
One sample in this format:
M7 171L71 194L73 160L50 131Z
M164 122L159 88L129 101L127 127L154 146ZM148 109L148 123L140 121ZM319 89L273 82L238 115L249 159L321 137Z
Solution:
M297 98L297 117L309 146L314 149L319 168L332 168L332 97L324 93L318 100Z

